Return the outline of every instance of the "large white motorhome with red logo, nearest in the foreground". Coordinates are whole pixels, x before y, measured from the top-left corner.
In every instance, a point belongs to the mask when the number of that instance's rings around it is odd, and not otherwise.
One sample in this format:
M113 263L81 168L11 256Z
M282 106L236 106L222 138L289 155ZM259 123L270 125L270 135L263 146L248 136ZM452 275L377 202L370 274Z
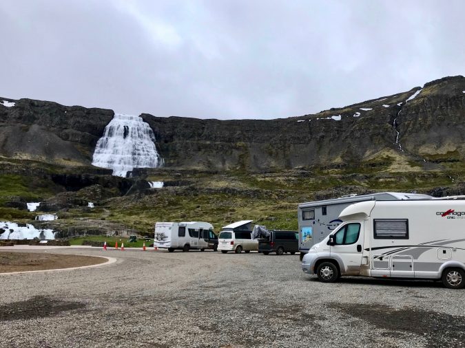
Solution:
M360 202L339 218L342 224L304 255L305 273L327 283L350 275L465 286L464 200Z

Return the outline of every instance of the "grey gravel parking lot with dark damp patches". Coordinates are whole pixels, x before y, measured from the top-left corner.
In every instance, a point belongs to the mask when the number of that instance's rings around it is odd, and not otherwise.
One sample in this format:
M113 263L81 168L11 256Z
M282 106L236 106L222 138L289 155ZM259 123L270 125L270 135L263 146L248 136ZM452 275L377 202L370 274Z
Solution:
M465 292L440 283L324 284L298 255L48 252L118 261L0 275L0 347L465 346Z

